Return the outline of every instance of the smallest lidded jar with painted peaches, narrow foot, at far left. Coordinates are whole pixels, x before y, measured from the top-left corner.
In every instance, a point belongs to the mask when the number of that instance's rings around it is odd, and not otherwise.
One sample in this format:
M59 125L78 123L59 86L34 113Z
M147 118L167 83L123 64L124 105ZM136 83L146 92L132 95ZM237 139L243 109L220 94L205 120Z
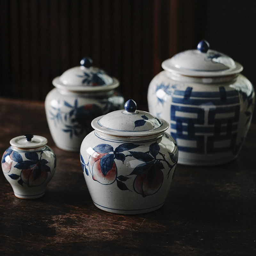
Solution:
M46 138L32 134L10 140L11 147L2 157L2 170L15 196L35 199L44 195L56 167L56 156L46 143Z

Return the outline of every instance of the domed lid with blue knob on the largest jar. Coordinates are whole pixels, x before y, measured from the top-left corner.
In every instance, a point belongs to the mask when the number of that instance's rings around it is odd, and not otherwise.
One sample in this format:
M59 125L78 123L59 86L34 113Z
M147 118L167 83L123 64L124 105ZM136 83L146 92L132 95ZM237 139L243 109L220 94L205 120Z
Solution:
M228 76L240 73L243 67L227 55L210 50L207 41L202 40L196 50L175 54L164 60L162 68L184 76Z

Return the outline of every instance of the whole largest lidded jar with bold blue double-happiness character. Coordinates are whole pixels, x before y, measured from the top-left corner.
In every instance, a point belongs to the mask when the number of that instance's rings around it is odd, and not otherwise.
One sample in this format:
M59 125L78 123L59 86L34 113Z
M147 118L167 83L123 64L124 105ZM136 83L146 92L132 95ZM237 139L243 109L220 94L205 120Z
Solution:
M254 90L243 67L201 41L162 63L148 88L149 112L165 119L179 163L218 165L237 157L252 119Z

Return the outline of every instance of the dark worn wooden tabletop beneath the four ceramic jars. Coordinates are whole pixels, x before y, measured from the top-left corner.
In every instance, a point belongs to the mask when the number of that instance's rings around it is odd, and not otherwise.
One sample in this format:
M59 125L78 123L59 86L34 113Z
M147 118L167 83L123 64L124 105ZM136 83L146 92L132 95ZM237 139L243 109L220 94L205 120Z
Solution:
M40 199L14 196L0 172L0 255L256 255L256 124L238 158L178 164L162 208L118 215L94 206L79 153L57 148L44 103L0 98L0 154L19 135L48 139L57 156Z

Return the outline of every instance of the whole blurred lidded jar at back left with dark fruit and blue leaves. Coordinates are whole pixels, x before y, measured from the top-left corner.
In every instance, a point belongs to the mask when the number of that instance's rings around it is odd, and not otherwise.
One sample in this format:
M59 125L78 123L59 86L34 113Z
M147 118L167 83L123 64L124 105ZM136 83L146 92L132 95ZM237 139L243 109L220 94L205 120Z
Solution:
M124 98L114 91L119 86L116 78L92 67L90 58L80 64L54 78L56 88L45 99L52 138L57 147L70 151L80 150L82 140L93 130L95 117L124 106Z

